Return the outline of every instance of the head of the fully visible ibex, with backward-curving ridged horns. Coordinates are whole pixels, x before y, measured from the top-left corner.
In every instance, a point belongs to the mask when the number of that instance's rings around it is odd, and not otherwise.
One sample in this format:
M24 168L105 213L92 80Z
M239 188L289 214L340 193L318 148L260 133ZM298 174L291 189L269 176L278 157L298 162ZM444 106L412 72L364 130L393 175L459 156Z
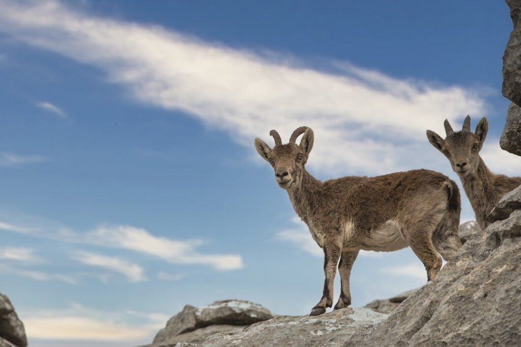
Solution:
M302 133L304 135L300 145L297 145L296 138ZM270 148L263 140L255 139L255 149L274 168L275 179L280 188L297 187L302 180L304 164L313 148L313 130L308 127L295 129L287 144L282 144L277 131L271 130L269 134L275 139L275 147Z

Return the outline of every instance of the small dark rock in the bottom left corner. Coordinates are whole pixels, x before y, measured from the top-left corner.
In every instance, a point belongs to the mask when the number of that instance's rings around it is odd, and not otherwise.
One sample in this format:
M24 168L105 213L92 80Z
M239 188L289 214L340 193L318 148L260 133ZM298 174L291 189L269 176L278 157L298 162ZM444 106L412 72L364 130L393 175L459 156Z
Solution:
M18 318L13 304L4 294L0 294L0 337L18 347L27 346L26 330L23 323Z

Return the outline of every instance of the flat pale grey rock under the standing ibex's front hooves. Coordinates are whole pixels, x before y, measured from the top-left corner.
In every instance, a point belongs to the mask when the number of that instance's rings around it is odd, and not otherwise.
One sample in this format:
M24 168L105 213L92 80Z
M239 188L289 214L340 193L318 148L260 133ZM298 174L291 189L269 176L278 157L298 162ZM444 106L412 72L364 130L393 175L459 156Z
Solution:
M276 316L208 337L203 346L359 346L387 314L343 308L320 316Z

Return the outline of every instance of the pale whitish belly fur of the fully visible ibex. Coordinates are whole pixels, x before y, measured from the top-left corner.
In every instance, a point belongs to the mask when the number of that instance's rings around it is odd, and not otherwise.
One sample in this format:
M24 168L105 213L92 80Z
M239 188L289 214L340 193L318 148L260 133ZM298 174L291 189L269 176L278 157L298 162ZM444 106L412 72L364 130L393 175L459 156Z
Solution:
M360 241L360 248L366 251L398 251L408 245L402 236L400 225L394 220L388 220L380 228L371 230L369 237Z

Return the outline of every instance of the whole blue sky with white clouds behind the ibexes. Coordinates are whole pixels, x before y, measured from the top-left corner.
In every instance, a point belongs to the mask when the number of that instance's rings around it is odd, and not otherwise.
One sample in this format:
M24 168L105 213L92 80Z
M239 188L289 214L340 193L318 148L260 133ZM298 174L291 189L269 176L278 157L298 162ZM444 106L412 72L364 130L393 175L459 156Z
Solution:
M253 139L311 126L319 179L457 180L425 130L487 116L483 158L519 172L498 145L511 29L476 0L1 0L0 292L30 344L138 345L226 298L307 314L321 252ZM353 304L425 281L410 250L367 252Z

